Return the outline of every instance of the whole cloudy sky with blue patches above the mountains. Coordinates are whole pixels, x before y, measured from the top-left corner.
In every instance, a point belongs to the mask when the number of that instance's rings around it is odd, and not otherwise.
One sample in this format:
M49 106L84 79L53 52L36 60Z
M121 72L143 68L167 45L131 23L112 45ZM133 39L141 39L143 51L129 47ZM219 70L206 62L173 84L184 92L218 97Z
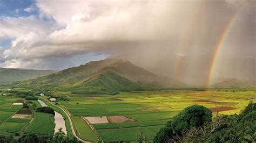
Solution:
M204 84L255 77L255 1L0 0L0 67L60 70L118 57ZM235 13L235 14L234 14Z

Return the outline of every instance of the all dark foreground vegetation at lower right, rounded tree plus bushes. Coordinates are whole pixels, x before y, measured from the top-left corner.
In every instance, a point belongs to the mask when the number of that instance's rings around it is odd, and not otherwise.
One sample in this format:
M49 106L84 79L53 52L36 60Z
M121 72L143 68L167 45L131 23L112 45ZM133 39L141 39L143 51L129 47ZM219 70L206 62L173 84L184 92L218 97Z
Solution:
M161 128L154 142L253 142L256 141L256 103L240 115L217 116L193 105L178 113Z

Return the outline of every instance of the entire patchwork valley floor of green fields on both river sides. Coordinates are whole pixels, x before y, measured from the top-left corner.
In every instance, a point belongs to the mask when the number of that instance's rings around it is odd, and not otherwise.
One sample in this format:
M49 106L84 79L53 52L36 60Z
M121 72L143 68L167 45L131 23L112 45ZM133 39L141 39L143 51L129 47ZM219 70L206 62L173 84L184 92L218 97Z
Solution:
M68 96L70 101L59 101L58 106L69 112L77 136L92 142L136 141L140 132L146 134L149 140L153 140L166 121L171 120L187 106L199 104L215 113L218 111L232 115L239 113L251 99L256 98L254 91L142 91L121 92L115 96L71 95L68 92L56 94ZM32 121L11 119L10 117L22 108L22 105L11 106L17 99L20 98L0 96L0 135L33 131L41 135L53 134L53 117L44 116L43 113L36 113ZM56 107L53 109L60 110ZM66 118L62 111L58 112ZM45 121L38 120L41 116ZM68 135L71 135L69 121L66 119L65 123ZM44 127L45 124L48 126ZM38 131L36 127L42 127L43 130Z

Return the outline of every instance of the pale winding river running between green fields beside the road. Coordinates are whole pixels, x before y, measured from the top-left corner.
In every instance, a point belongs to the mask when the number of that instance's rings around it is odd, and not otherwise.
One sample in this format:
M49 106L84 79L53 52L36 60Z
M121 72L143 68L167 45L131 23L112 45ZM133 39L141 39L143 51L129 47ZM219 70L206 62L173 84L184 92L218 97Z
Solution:
M48 106L48 105L46 105L46 104L45 104L43 101L41 101L41 100L37 100L37 101L38 101L43 107ZM58 113L58 112L55 111L55 116L54 116L54 118L55 118L55 121L54 121L54 123L55 123L54 132L55 132L55 133L58 132L58 131L59 131L59 128L62 127L62 131L66 134L65 120L64 120L63 116L62 116L60 113Z

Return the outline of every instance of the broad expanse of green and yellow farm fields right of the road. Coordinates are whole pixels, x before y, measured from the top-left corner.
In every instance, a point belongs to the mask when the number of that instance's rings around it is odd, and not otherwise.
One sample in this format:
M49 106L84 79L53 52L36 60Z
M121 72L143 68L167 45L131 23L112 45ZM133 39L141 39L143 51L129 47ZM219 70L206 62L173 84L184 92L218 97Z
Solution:
M152 140L166 121L187 106L199 104L213 112L232 115L239 113L250 99L256 97L254 91L143 91L122 92L116 96L66 96L70 101L59 101L58 105L70 112L79 137L89 141L97 141L96 137L103 141L136 141L140 132ZM90 123L84 117L106 117L108 121ZM89 131L88 124L94 132Z

